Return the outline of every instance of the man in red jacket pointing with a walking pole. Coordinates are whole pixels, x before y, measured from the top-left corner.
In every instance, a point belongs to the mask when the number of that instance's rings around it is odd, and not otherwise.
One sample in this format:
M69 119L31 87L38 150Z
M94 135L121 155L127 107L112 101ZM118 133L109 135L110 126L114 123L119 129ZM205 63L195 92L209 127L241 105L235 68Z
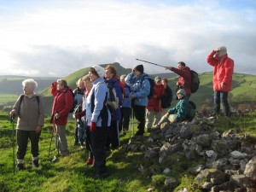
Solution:
M177 80L177 90L183 89L186 91L186 96L189 98L191 95L190 84L191 84L191 75L190 68L186 66L183 61L177 63L177 68L175 67L166 67L166 69L171 70L172 72L179 75ZM176 90L176 91L177 91Z

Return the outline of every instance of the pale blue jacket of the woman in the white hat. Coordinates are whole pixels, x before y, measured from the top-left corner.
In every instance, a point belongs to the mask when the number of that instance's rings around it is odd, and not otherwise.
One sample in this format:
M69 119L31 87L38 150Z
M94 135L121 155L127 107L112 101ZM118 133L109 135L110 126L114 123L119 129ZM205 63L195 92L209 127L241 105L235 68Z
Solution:
M86 96L86 125L96 122L97 127L110 126L111 114L107 108L108 86L102 78L92 82L93 86L88 96ZM92 108L93 107L93 108ZM103 123L106 122L106 125Z

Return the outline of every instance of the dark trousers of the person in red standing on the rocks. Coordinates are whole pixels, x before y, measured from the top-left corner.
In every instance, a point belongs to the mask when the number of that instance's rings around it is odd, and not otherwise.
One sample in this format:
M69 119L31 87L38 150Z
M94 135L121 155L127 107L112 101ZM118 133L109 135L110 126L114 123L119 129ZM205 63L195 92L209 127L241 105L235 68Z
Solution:
M224 109L224 115L230 116L230 104L228 102L228 93L224 91L214 91L214 110L220 112L220 102Z

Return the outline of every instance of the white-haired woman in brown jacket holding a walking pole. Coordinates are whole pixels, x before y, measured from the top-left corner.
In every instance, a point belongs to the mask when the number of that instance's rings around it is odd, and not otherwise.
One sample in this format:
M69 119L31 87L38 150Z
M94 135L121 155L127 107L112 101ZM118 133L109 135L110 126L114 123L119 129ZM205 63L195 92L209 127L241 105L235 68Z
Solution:
M23 164L26 155L28 139L31 143L32 166L38 167L38 143L41 129L44 126L44 105L42 96L38 96L34 90L38 83L33 79L22 82L24 94L20 95L10 112L12 117L17 116L17 170L24 170Z

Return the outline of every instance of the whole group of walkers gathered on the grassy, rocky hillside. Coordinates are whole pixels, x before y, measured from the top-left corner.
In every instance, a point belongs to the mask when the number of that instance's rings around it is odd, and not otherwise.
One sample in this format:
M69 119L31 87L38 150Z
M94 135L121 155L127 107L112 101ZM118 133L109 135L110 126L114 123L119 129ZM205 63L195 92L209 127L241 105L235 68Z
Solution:
M215 112L220 113L220 102L225 116L230 116L228 92L231 89L234 61L227 55L227 49L218 47L207 56L207 62L214 67L213 90ZM129 129L131 114L137 119L136 136L157 129L166 121L171 123L186 119L191 90L190 69L183 61L176 67L166 67L179 75L177 80L177 105L171 107L172 89L167 79L155 77L154 95L148 99L150 83L143 65L134 67L129 74L117 76L116 68L108 65L103 68L93 66L89 73L77 82L77 89L72 90L65 79L58 79L51 84L54 96L51 122L55 128L55 148L61 156L69 154L65 135L67 118L73 105L77 105L75 144L88 151L86 164L96 169L95 178L108 176L106 151L120 145L120 132L125 135ZM38 141L44 126L44 104L42 96L35 93L38 84L33 79L22 82L24 94L20 95L10 112L17 116L17 169L25 169L23 160L26 154L28 138L31 141L32 163L38 167ZM107 102L109 91L115 90L119 107L113 112ZM74 96L73 96L74 95ZM163 115L162 115L163 114Z

